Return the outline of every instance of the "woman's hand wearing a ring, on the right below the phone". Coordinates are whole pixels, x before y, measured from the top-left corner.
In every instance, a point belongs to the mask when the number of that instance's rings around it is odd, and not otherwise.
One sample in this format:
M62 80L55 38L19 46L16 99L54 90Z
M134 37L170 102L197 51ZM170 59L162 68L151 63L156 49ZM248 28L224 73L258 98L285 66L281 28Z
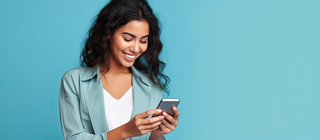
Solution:
M166 112L162 112L162 115L165 116L165 119L162 120L162 124L160 124L159 128L152 131L150 135L150 139L159 139L162 138L164 134L168 134L178 126L178 117L180 112L176 107L172 107L174 115L171 116Z

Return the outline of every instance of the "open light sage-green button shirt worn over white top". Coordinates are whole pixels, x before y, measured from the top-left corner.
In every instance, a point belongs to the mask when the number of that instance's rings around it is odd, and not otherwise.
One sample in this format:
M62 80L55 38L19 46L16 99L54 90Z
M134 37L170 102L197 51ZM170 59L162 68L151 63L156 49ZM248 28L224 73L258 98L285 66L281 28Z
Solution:
M147 74L131 66L133 111L131 118L155 109L162 99L162 89ZM109 131L99 65L78 67L66 72L60 88L60 119L64 139L106 139ZM149 139L150 132L131 140Z

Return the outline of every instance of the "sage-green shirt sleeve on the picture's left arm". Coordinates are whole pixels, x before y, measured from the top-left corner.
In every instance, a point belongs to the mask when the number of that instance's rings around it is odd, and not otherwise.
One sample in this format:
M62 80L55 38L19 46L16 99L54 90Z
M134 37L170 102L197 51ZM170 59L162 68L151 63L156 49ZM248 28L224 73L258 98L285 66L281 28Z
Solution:
M80 102L75 81L78 78L65 75L61 81L59 106L64 139L106 139L106 132L92 134L87 132L81 121Z

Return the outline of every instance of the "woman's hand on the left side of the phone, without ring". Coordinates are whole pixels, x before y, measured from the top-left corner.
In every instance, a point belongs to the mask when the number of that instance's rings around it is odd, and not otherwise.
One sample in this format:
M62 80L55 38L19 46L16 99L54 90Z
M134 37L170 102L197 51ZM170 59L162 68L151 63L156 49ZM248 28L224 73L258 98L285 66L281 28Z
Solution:
M146 112L136 114L128 123L123 125L126 137L140 136L159 128L161 121L165 118L163 115L155 116L149 119L152 114L162 112L161 109L148 110Z

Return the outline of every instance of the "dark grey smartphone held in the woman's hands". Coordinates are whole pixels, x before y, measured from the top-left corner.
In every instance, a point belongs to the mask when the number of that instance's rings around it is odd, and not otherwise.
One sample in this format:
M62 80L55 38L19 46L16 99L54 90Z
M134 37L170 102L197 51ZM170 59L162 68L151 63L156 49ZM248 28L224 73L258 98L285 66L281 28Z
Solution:
M177 107L179 104L180 100L179 99L173 99L173 98L164 98L160 101L158 104L157 109L161 109L163 112L168 113L169 115L173 116L174 112L172 110L172 107L175 106ZM161 115L162 113L157 113L153 114L153 116L158 116Z

